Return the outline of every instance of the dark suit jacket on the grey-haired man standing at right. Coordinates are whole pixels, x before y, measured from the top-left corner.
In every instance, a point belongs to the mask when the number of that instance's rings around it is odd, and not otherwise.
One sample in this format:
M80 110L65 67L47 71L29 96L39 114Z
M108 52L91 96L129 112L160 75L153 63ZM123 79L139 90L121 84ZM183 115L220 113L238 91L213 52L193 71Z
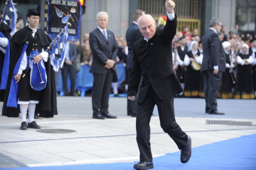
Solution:
M219 71L226 71L226 55L218 34L208 30L202 39L203 61L201 71L213 70L213 66L219 66Z

